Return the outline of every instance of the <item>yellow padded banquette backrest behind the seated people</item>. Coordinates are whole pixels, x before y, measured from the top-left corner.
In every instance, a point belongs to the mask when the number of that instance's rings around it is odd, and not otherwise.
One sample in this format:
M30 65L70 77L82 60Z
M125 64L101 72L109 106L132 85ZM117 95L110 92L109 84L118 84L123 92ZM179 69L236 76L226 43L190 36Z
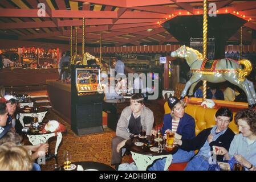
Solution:
M196 122L196 135L200 133L202 130L207 129L209 127L213 127L215 123L215 114L218 109L210 109L210 108L204 108L200 105L192 105L188 104L185 107L185 113L191 115L194 118L194 121ZM168 103L165 102L164 104L164 111L165 114L170 113L170 107L168 106ZM234 115L233 112L233 119L231 123L229 124L229 128L234 131L235 134L238 134L238 127L234 123Z

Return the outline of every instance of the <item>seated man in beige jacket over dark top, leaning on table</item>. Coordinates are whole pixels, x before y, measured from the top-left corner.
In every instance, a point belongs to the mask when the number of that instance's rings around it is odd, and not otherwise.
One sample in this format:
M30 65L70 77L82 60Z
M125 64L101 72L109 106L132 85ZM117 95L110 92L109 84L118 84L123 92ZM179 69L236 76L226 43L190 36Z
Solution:
M151 134L154 123L153 112L144 106L144 98L141 94L133 94L131 105L124 108L116 127L116 137L112 138L112 159L111 164L118 168L121 163L122 152L120 149L125 142L139 135L141 126L146 126L146 135Z

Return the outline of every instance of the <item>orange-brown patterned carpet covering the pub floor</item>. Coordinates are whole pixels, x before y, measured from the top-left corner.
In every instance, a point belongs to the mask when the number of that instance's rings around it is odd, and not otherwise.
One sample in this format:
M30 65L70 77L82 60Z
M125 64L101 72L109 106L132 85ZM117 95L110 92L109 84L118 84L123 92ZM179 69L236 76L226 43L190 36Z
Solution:
M154 113L155 122L159 124L162 122L162 113L160 112L159 105L156 101L147 102L148 106ZM89 134L77 136L70 129L70 125L65 122L62 118L56 115L53 111L49 111L44 118L44 121L55 119L60 123L63 123L67 127L67 132L63 133L62 143L58 150L58 163L63 164L63 153L64 151L70 152L72 156L72 162L80 161L94 161L104 163L110 166L111 164L111 139L115 136L115 131L104 127L103 133ZM48 140L50 143L50 151L54 152L55 140ZM27 143L25 138L25 143ZM129 161L128 156L124 156L122 162L126 163ZM45 165L42 165L42 170L52 170L52 166L55 164L55 160L47 160Z

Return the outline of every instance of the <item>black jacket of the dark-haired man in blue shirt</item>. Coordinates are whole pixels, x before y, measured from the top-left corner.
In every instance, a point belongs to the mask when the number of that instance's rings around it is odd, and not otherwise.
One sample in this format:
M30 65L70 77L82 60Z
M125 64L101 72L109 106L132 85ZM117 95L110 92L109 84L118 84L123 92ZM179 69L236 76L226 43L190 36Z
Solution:
M197 137L193 139L181 139L182 145L180 146L183 150L200 150L202 146L204 146L208 136L210 135L210 131L212 130L212 127L202 130ZM220 137L217 138L217 140L209 143L210 144L210 150L213 150L213 146L219 146L226 148L227 151L229 151L230 143L233 140L235 134L234 132L228 127L224 134L220 135ZM222 161L224 160L224 156L217 155L217 160Z

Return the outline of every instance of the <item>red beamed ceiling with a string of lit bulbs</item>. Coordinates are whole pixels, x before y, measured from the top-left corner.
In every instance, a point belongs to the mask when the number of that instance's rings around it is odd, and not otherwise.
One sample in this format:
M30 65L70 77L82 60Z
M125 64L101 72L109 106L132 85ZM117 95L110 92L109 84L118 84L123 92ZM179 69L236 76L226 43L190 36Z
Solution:
M38 16L35 0L1 0L0 34L16 35L19 40L69 40L70 26L78 26L82 42L82 18L86 18L86 43L122 46L177 42L161 23L180 15L202 14L202 0L39 0L46 5L46 16ZM256 30L256 1L211 1L218 13L235 14L246 20L243 39L251 41ZM235 13L233 13L235 11ZM237 14L238 12L238 14ZM245 15L245 17L243 17ZM147 31L153 28L153 31ZM75 31L74 31L75 32ZM230 40L239 40L237 32Z

